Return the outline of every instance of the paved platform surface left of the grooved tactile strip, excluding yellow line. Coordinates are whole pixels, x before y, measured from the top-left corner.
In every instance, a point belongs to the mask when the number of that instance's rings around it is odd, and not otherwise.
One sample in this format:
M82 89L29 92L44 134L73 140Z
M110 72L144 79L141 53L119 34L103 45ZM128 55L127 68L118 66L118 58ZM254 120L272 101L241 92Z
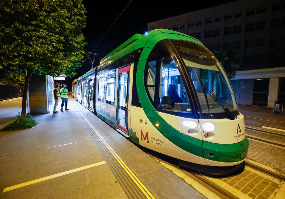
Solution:
M13 121L19 105L0 105L1 126ZM35 119L34 128L0 132L0 198L127 198L74 111ZM101 165L2 192L94 163Z

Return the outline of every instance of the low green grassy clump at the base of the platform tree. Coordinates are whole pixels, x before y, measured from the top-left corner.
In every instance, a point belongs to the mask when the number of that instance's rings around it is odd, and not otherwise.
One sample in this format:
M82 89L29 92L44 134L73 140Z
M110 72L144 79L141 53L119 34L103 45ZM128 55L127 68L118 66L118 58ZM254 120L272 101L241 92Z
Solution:
M26 116L21 116L20 112L18 111L18 115L16 116L14 121L1 128L0 131L13 131L25 128L32 128L36 126L36 124L37 122L32 118L30 114L27 114Z

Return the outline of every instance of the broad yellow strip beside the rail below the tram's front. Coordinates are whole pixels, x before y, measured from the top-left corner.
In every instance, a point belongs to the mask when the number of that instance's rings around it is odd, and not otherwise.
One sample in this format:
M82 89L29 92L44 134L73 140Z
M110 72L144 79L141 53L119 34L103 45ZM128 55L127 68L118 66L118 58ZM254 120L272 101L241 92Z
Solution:
M158 161L157 159L155 159ZM204 186L190 178L188 175L177 169L176 167L173 167L171 165L168 165L164 162L158 161L160 164L162 164L164 167L172 171L176 176L179 178L184 179L184 181L188 184L191 185L194 189L196 189L198 192L200 192L202 195L204 195L206 198L213 198L213 199L220 199L219 196L217 196L215 193L211 192L209 189L206 189Z

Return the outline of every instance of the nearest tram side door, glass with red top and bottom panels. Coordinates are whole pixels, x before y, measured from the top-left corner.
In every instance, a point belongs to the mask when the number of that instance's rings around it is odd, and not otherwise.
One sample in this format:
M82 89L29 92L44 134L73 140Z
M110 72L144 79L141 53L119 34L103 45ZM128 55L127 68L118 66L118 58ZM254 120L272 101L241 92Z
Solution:
M117 125L128 134L128 91L130 66L119 69L118 95L117 95Z

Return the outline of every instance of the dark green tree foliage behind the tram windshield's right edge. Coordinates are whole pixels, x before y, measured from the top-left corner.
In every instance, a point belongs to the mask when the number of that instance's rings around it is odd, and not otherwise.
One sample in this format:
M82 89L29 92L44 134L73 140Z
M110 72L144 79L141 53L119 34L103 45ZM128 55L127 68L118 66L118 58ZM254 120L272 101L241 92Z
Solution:
M239 67L235 54L232 51L225 51L223 53L218 53L217 51L212 52L225 69L229 79L234 78L237 68Z

